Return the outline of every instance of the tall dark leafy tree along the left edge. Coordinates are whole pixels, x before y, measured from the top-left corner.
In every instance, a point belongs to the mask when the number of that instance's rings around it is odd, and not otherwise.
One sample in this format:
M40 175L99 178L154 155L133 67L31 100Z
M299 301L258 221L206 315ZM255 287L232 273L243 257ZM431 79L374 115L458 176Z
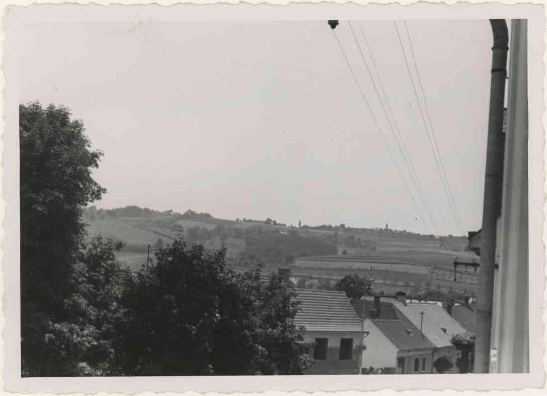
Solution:
M102 153L90 150L83 124L53 104L21 104L19 135L21 369L59 375L60 366L44 360L44 343L46 335L68 336L51 331L70 315L65 302L75 291L82 208L106 191L91 177Z

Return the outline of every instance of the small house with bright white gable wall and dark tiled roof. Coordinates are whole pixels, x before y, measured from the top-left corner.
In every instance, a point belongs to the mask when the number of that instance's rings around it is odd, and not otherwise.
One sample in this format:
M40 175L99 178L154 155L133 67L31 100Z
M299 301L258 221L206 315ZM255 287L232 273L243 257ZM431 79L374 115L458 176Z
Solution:
M431 374L435 345L401 319L364 321L363 373Z

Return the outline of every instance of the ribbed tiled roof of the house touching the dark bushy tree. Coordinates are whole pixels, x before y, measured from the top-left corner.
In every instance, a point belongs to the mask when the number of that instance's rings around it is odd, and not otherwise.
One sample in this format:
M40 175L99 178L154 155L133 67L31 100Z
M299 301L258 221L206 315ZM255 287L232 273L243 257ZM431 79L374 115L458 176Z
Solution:
M344 292L295 289L301 301L294 323L308 331L361 331L362 323Z

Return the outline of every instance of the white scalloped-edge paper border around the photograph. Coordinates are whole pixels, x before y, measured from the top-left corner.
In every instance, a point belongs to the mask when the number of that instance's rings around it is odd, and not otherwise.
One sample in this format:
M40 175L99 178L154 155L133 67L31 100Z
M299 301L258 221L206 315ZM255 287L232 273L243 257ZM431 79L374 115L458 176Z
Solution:
M70 3L70 4L68 4ZM320 3L320 4L319 4ZM2 2L0 2L2 4ZM36 5L33 5L36 4ZM64 4L64 5L59 5ZM87 5L86 5L87 4ZM133 7L131 7L133 5ZM141 7L140 5L147 5ZM334 392L354 394L361 391L396 391L428 389L465 394L482 390L521 390L541 392L545 384L545 249L543 235L545 213L544 180L544 109L545 109L545 6L533 2L291 2L288 0L222 1L195 0L174 2L160 0L116 2L63 2L4 0L1 21L3 88L2 141L2 275L3 310L0 316L3 337L2 382L4 392L48 393L119 393L215 392L215 393L281 393ZM29 7L30 8L26 8ZM167 9L168 7L168 9ZM40 12L28 12L39 8ZM46 9L55 9L55 12ZM393 19L485 19L523 18L528 20L528 108L529 108L529 340L530 372L528 374L469 375L333 375L333 376L233 376L233 377L71 377L21 378L20 376L20 310L19 310L19 142L18 104L19 75L16 48L10 48L10 32L18 24L33 22L98 22L98 21L271 21L271 20L393 20ZM487 109L485 109L487 111ZM484 131L486 133L486 131ZM541 274L541 276L539 276ZM532 388L536 388L532 391ZM304 393L302 393L304 392ZM143 393L143 394L144 394ZM397 392L399 393L399 392ZM414 392L413 392L414 393ZM419 394L430 393L420 391ZM461 392L457 392L458 394ZM503 392L507 393L507 392ZM513 393L513 392L511 392ZM543 393L543 392L542 392Z

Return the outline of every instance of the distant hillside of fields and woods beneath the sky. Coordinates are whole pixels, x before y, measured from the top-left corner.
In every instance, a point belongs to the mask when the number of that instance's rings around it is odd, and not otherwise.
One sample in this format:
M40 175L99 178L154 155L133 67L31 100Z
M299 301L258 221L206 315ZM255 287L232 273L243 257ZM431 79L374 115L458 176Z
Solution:
M208 213L159 212L136 206L88 209L84 216L89 235L101 234L126 243L118 258L135 269L146 264L148 244L153 258L160 239L169 243L183 237L188 243L201 243L206 248L226 246L229 263L242 268L265 263L267 271L274 271L288 265L299 276L330 279L328 282L358 272L375 278L376 286L385 292L403 287L414 292L476 287L473 271L458 269L457 282L453 282L453 258L472 261L474 257L469 252L447 249L456 246L463 250L462 237L350 229L343 224L296 228L271 219L228 220Z

